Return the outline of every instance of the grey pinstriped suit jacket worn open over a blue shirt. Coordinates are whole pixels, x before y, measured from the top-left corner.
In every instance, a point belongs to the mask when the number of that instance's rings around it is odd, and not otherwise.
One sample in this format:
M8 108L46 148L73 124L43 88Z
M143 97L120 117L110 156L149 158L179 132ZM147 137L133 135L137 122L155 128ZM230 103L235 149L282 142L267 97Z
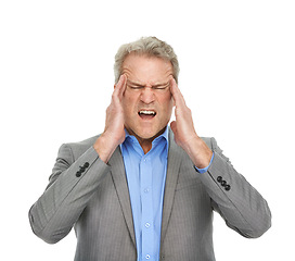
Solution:
M29 211L30 225L50 244L74 226L76 261L136 261L120 149L105 164L92 147L97 138L61 147L50 183ZM198 174L169 130L159 260L215 260L213 210L245 237L259 237L270 227L266 200L233 169L214 138L204 140L215 157L208 171Z

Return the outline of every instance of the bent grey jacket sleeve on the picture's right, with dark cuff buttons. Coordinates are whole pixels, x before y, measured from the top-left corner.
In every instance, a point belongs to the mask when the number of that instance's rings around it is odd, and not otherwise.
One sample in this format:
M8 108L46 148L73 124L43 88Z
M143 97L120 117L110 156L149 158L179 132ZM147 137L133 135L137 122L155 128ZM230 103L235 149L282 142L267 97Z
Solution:
M271 213L261 195L239 174L214 138L215 153L206 173L200 174L211 204L227 225L244 237L261 236L271 226Z

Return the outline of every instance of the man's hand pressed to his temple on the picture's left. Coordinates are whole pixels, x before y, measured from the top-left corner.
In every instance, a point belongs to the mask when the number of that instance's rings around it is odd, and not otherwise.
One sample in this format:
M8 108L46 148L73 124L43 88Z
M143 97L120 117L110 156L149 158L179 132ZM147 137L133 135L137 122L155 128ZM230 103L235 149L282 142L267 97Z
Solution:
M105 163L107 163L117 146L125 140L121 99L126 89L126 75L121 75L112 95L111 104L106 109L104 132L93 145L100 159Z

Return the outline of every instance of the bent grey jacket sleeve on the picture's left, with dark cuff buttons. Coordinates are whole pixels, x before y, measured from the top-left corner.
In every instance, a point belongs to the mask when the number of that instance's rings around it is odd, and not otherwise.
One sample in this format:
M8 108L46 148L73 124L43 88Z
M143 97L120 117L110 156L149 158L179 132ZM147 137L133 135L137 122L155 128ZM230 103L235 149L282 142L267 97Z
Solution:
M29 210L33 232L49 244L64 238L108 171L93 147L75 159L63 145L47 189Z

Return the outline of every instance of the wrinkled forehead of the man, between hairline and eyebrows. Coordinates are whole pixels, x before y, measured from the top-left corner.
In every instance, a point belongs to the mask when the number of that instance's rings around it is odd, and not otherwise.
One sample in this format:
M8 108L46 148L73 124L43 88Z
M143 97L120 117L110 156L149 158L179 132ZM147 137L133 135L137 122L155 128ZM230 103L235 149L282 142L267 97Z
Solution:
M161 58L129 54L123 63L123 74L142 84L158 84L172 75L170 62Z

